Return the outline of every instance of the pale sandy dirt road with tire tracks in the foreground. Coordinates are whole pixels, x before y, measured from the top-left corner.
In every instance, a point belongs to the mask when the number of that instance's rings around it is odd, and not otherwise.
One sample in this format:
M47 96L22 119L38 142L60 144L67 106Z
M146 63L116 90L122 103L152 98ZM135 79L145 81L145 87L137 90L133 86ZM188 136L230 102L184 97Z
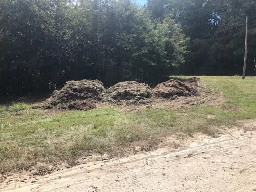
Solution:
M256 132L79 165L0 191L256 191Z

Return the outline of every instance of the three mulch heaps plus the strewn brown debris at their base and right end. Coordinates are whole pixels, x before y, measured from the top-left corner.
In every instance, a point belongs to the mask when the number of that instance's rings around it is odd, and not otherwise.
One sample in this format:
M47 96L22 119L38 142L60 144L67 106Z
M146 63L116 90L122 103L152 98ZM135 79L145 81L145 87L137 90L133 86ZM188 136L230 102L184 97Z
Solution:
M88 110L102 105L126 108L188 108L192 105L221 106L225 99L211 91L199 78L171 79L150 88L145 83L126 81L106 89L98 80L69 81L54 91L44 108ZM41 106L41 105L39 105Z

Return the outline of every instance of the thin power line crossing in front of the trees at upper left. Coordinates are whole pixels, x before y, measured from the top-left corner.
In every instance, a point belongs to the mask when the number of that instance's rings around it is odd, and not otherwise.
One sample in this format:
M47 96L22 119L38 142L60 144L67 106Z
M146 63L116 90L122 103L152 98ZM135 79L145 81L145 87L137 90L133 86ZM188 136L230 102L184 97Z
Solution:
M31 4L31 5L45 5L45 6L50 6L50 7L62 7L62 8L68 8L68 9L77 9L77 10L92 11L92 12L98 12L98 13L112 13L112 14L116 14L116 15L132 15L132 16L150 17L150 15L143 15L143 14L117 13L117 12L113 12L113 11L85 9L85 8L79 8L79 7L69 7L69 6L63 6L63 5L52 5L52 4L45 4L45 3L27 2L27 1L21 1L21 0L11 0L11 1L12 2L27 3L27 4ZM163 17L163 18L172 19L171 17Z

